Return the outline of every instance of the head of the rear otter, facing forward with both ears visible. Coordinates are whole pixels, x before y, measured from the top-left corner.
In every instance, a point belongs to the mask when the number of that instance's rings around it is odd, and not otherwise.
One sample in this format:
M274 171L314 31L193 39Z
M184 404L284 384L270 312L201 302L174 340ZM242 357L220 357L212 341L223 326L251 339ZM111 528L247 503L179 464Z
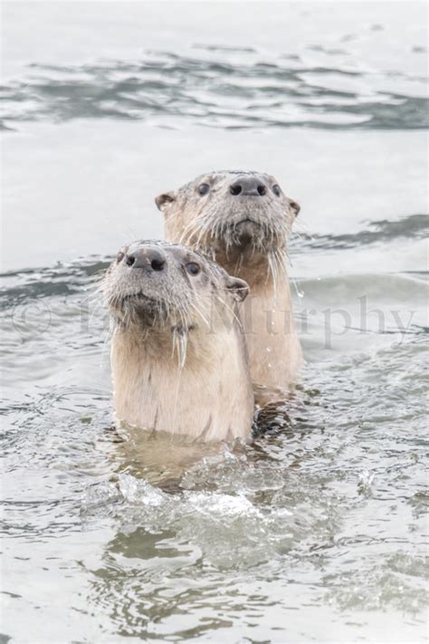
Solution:
M259 172L216 171L156 198L170 241L214 257L284 249L300 206L275 178ZM221 260L222 261L222 260Z

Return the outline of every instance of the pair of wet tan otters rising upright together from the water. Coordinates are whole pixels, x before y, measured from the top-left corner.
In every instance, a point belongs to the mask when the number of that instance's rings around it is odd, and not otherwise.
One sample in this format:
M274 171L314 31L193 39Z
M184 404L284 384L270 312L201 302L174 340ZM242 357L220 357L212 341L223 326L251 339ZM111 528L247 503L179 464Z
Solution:
M250 374L264 404L285 398L300 367L286 273L287 238L300 207L274 178L255 172L204 175L156 202L167 239L194 251L139 242L110 266L104 290L115 320L117 415L205 440L246 437L253 418ZM250 372L234 310L247 283Z

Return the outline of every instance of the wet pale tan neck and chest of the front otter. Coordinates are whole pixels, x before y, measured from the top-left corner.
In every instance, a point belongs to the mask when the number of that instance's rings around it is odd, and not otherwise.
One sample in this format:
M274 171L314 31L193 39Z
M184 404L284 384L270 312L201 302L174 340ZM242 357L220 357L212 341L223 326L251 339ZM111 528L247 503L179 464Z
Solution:
M180 367L171 333L160 338L115 332L111 367L117 417L139 428L201 440L249 436L253 392L236 333L235 325L188 332Z

